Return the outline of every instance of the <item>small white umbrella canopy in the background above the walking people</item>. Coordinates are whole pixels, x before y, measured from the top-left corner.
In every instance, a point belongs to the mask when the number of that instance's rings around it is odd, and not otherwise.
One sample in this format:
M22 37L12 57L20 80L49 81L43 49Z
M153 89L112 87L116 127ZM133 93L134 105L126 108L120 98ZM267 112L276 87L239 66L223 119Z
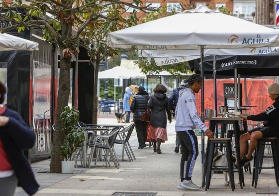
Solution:
M98 73L98 79L108 79L108 78L120 78L120 79L133 79L133 78L142 78L145 79L146 75L132 71L125 67L116 66L111 69L100 71Z

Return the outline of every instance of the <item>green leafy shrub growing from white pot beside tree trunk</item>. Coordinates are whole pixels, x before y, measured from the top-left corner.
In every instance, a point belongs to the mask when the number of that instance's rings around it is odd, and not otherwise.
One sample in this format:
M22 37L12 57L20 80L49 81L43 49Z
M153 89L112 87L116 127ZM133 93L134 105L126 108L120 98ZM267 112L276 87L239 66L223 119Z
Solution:
M60 153L66 161L70 161L73 153L85 141L84 131L77 127L80 119L79 110L69 106L61 109L62 131L66 134L63 145L60 147Z

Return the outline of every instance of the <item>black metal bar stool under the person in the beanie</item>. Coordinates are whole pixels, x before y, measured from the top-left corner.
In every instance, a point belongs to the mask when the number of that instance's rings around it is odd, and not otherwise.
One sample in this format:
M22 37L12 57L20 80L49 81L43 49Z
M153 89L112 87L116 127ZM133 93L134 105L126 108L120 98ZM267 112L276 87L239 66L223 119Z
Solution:
M265 153L265 146L270 145L272 149L272 157L273 157L273 166L263 166L263 159ZM274 169L275 178L277 186L279 186L279 143L278 139L275 137L270 138L261 138L258 141L258 147L254 153L254 168L253 168L253 179L252 179L252 187L257 188L259 174L262 169Z

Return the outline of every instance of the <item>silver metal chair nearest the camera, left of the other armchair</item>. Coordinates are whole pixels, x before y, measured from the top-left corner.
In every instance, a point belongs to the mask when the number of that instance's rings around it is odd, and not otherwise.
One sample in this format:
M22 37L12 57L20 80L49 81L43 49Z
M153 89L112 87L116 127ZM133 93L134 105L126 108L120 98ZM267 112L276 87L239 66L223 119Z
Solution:
M115 142L115 139L116 139L120 129L121 129L121 127L113 127L112 130L108 134L94 136L93 142L90 142L88 144L89 148L91 148L89 162L88 162L89 168L91 166L94 151L96 148L98 148L98 150L96 151L97 153L96 153L95 165L96 165L99 150L103 149L105 152L105 154L104 154L105 167L107 167L107 164L110 167L109 160L108 160L108 154L110 154L110 157L114 163L114 166L117 169L119 169L119 162L116 157L115 150L114 150L114 142Z

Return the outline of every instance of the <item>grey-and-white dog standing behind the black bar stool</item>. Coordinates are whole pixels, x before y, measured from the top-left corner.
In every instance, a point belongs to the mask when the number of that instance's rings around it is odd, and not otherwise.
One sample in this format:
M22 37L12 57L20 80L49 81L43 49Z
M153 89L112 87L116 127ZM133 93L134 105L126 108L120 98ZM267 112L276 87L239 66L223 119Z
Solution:
M233 163L236 161L236 156L233 155L232 157L232 161ZM227 162L227 154L223 153L219 150L219 148L215 148L214 149L214 158L213 158L213 167L226 167L228 166L228 162ZM213 175L213 172L212 172ZM224 172L224 176L225 176L225 185L230 185L230 177L229 177L229 173L228 172Z

